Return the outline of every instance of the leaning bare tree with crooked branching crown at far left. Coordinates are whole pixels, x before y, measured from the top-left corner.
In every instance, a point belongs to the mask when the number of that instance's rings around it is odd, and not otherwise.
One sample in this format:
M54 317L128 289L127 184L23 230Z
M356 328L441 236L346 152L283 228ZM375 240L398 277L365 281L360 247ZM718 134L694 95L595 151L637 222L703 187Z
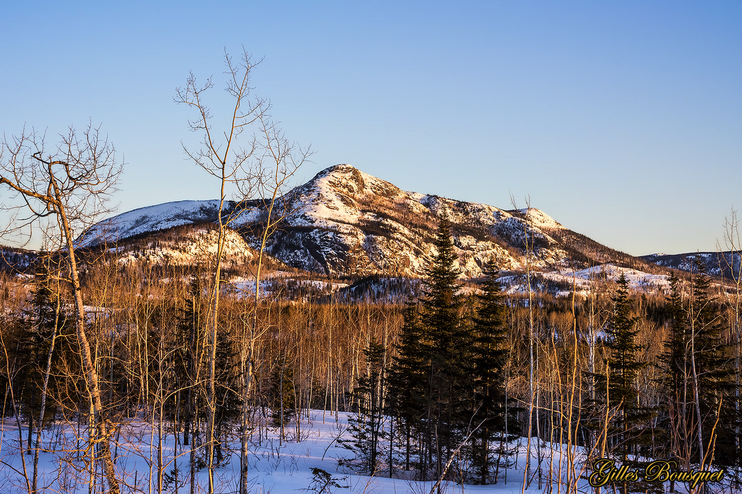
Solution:
M66 273L60 277L70 284L75 299L77 344L86 392L92 404L93 428L89 441L91 448L99 448L111 493L118 494L109 444L111 427L103 415L99 376L85 333L85 307L74 242L96 218L110 212L108 198L116 190L121 164L116 161L114 146L108 138L90 124L82 133L70 127L51 149L45 146L45 136L33 130L4 137L1 146L0 185L10 190L11 200L15 201L6 207L13 211L14 221L1 233L30 235L30 228L39 223L56 227L57 243L50 250L59 250L65 258Z

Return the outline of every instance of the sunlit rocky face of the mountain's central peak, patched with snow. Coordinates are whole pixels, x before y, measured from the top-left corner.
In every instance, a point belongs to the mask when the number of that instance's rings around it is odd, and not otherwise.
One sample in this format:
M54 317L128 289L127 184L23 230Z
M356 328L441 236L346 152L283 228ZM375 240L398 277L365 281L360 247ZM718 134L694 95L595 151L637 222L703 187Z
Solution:
M501 269L518 269L525 233L536 247L534 264L556 263L566 256L547 233L563 227L539 210L508 212L404 192L347 164L322 170L285 198L289 213L268 251L306 270L337 276L422 276L433 259L438 215L444 210L464 278L481 276L490 259ZM259 214L255 204L237 224L249 228Z

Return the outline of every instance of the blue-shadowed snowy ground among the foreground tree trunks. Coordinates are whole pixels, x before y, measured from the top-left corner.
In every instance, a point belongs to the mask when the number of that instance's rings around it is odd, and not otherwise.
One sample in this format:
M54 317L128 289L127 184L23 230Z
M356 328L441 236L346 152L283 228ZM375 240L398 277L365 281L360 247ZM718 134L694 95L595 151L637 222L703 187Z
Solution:
M324 420L323 420L324 415ZM332 481L339 487L327 486L322 492L332 493L376 493L376 494L422 494L429 493L433 482L411 481L409 472L395 473L395 478L371 477L353 471L345 466L353 458L353 453L340 444L337 438L347 437L347 413L323 414L312 411L301 421L298 428L294 423L285 428L286 440L280 441L279 431L270 428L260 438L252 437L249 459L251 493L318 493L321 483L315 481L317 475L312 468L319 468L332 475ZM168 430L170 429L170 430ZM27 427L20 428L24 441L27 441ZM100 493L107 491L102 470L93 465L93 486L90 484L91 465L85 461L85 427L78 430L69 424L55 424L47 428L43 437L42 453L39 455L39 490L46 493ZM78 440L79 438L79 440ZM159 493L157 480L158 435L157 424L141 418L123 424L116 433L117 441L112 444L116 457L116 472L123 493ZM182 433L181 433L182 438ZM520 493L525 465L525 440L522 440L516 464L505 472L501 470L496 485L462 485L453 481L441 484L441 493ZM217 493L237 493L237 473L240 467L239 445L225 451L223 465L215 470L214 483ZM559 450L557 444L542 444L542 479L550 478L553 472L554 489L556 479L566 480L567 451ZM577 451L575 451L577 453ZM531 464L536 464L536 448L533 446ZM579 458L579 453L578 453ZM170 424L162 425L162 493L190 493L189 447L176 444ZM203 455L200 455L203 458ZM19 425L10 419L2 424L0 439L0 493L28 492L24 471L31 476L33 455L19 453ZM177 487L174 481L177 467ZM577 466L579 470L579 464ZM451 470L458 470L455 466ZM561 472L562 475L557 475ZM206 492L207 470L203 468L196 475L195 492ZM565 489L562 484L562 490ZM586 481L580 481L578 492L588 493ZM533 480L527 492L548 492L546 486L538 490L537 479ZM556 492L556 491L555 491Z

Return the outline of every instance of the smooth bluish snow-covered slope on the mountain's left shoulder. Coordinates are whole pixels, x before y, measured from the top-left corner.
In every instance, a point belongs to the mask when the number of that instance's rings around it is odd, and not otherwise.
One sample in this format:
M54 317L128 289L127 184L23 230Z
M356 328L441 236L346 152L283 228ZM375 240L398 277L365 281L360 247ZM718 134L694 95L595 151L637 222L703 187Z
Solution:
M226 210L234 207L229 201ZM175 201L140 207L99 221L78 238L79 247L91 247L103 242L116 242L142 233L166 230L183 224L217 221L219 200Z

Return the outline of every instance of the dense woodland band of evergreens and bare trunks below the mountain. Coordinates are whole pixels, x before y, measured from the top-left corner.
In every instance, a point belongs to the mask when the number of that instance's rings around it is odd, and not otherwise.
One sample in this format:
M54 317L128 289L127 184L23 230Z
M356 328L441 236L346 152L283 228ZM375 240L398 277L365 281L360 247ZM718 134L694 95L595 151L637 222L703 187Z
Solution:
M59 455L93 475L91 460L106 450L115 458L116 442L131 440L120 425L144 418L190 447L180 475L194 475L268 430L301 441L298 418L313 409L324 420L353 414L338 441L347 465L372 475L506 481L520 438L531 452L525 482L545 489L555 480L542 472L557 462L575 472L567 490L589 474L589 461L555 454L557 443L637 468L650 458L723 468L736 485L739 298L703 264L673 276L665 294L634 293L622 277L558 298L505 296L490 267L481 290L464 296L445 217L436 247L421 296L407 303L319 292L256 303L227 284L213 339L208 258L168 267L91 256L85 330L109 428L71 450L59 444ZM42 252L33 270L4 278L0 291L2 414L30 455L40 429L93 424L72 293L59 281L64 256ZM157 475L168 475L162 463Z

